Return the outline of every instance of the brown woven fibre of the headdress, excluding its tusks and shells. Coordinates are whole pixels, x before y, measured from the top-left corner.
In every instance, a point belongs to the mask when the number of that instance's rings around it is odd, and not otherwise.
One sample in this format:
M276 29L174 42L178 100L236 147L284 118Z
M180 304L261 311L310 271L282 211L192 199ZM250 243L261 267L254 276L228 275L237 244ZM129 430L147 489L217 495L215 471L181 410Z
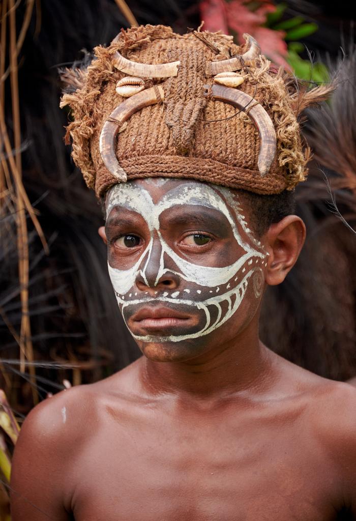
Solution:
M261 141L251 119L227 103L204 97L203 85L213 83L210 62L241 55L245 48L235 45L231 36L207 32L198 36L209 45L193 33L179 35L164 26L122 31L108 47L94 49L91 65L80 71L82 87L63 95L61 106L69 105L72 117L67 142L71 137L75 164L97 196L118 182L99 151L105 121L125 101L116 84L128 75L115 68L116 51L138 63L181 62L176 77L144 78L146 88L162 85L164 100L138 110L119 129L116 156L128 179L189 178L275 194L306 178L308 150L302 150L297 121L301 93L291 90L290 79L271 68L264 56L238 71L244 78L238 89L265 108L276 131L277 153L269 172L261 177L257 166ZM70 71L65 75L70 83ZM78 71L72 71L72 77L77 87ZM308 95L312 103L313 96Z

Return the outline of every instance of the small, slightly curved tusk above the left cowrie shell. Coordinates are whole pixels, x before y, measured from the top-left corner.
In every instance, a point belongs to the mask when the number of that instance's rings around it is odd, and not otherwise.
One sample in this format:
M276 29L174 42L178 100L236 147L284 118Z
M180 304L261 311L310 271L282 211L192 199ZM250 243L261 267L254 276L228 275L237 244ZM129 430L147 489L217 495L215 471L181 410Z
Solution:
M137 61L128 60L116 52L113 55L113 64L124 74L138 76L138 78L170 78L177 75L181 62L171 61L171 63L159 65L140 64Z

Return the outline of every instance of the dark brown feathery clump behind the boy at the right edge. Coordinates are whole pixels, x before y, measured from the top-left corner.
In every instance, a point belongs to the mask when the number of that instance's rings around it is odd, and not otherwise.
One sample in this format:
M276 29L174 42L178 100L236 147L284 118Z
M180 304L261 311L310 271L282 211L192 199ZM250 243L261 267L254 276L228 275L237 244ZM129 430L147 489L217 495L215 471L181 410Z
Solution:
M335 379L356 373L355 66L351 50L330 70L330 100L306 110L303 133L314 159L296 190L296 213L307 241L283 284L268 289L261 320L262 338L279 354Z

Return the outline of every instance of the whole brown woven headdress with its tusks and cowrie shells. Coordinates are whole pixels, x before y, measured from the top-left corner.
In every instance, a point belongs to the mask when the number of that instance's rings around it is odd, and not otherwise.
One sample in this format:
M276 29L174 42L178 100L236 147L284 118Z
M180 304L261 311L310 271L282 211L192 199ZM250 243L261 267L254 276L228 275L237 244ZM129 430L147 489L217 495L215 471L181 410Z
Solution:
M198 179L259 194L306 177L297 116L327 89L303 95L281 69L220 33L164 26L122 30L85 69L62 71L72 109L67 142L101 196L128 179Z

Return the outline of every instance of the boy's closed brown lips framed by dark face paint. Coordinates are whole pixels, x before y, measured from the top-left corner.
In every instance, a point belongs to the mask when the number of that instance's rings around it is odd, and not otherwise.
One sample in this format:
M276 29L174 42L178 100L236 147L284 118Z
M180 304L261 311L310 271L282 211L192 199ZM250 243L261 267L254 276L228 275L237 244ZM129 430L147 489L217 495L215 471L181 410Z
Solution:
M134 327L144 329L167 329L170 327L187 326L193 317L169 307L142 307L131 316Z

